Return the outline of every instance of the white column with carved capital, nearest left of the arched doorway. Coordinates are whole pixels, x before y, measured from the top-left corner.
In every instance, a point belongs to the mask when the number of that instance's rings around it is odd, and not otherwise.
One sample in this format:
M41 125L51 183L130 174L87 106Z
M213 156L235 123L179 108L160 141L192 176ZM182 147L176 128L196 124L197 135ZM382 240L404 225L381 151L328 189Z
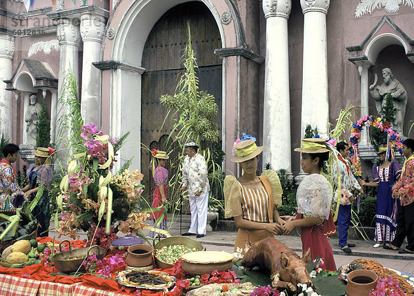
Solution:
M101 126L101 71L92 65L100 61L102 37L105 32L105 19L99 15L86 13L81 16L81 36L83 41L82 101L83 122L95 122Z

